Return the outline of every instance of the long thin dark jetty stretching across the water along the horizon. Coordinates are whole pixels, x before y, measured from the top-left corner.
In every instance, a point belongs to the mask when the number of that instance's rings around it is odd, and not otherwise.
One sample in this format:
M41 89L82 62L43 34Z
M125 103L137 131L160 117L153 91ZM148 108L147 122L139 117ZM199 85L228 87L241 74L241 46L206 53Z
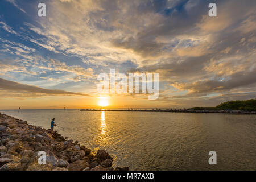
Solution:
M256 114L256 111L243 111L243 110L80 109L80 111L126 111L126 112L159 112L159 113L226 113L226 114Z

